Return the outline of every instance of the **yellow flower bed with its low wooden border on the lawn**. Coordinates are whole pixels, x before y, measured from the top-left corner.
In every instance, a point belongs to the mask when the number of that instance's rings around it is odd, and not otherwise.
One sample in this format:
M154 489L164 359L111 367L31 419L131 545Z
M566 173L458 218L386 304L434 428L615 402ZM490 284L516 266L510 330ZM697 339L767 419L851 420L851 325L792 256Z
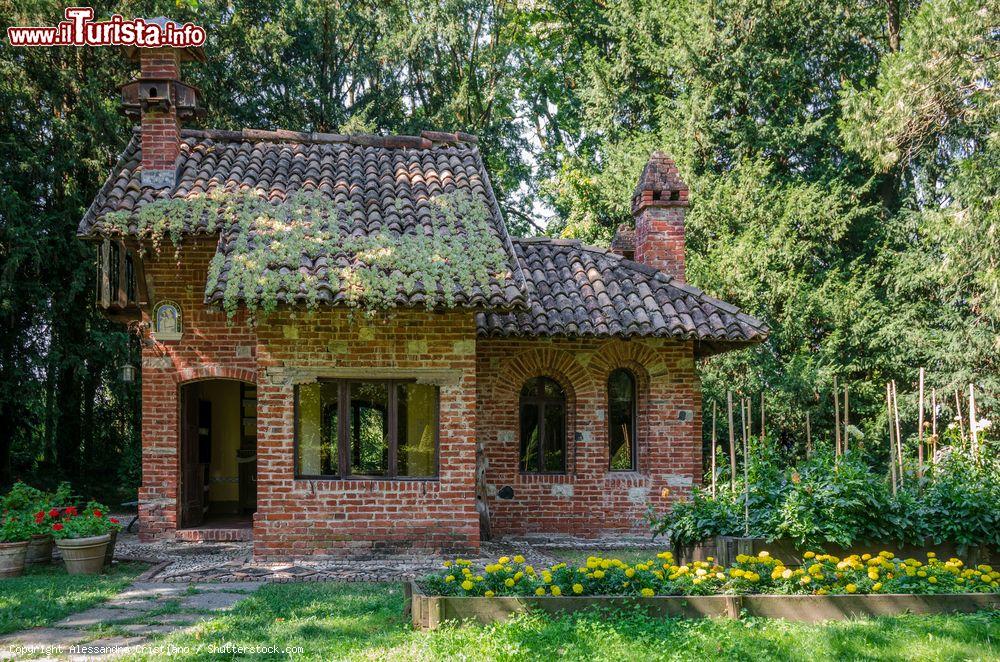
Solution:
M747 613L805 621L1000 608L1000 572L988 565L970 568L933 553L926 561L891 552L805 557L808 565L793 569L766 551L741 554L723 568L713 560L678 565L662 552L634 565L590 557L577 568L559 563L536 570L515 556L481 571L459 559L411 586L411 610L414 625L436 627L448 619L493 622L528 609L595 605L640 604L661 616Z

